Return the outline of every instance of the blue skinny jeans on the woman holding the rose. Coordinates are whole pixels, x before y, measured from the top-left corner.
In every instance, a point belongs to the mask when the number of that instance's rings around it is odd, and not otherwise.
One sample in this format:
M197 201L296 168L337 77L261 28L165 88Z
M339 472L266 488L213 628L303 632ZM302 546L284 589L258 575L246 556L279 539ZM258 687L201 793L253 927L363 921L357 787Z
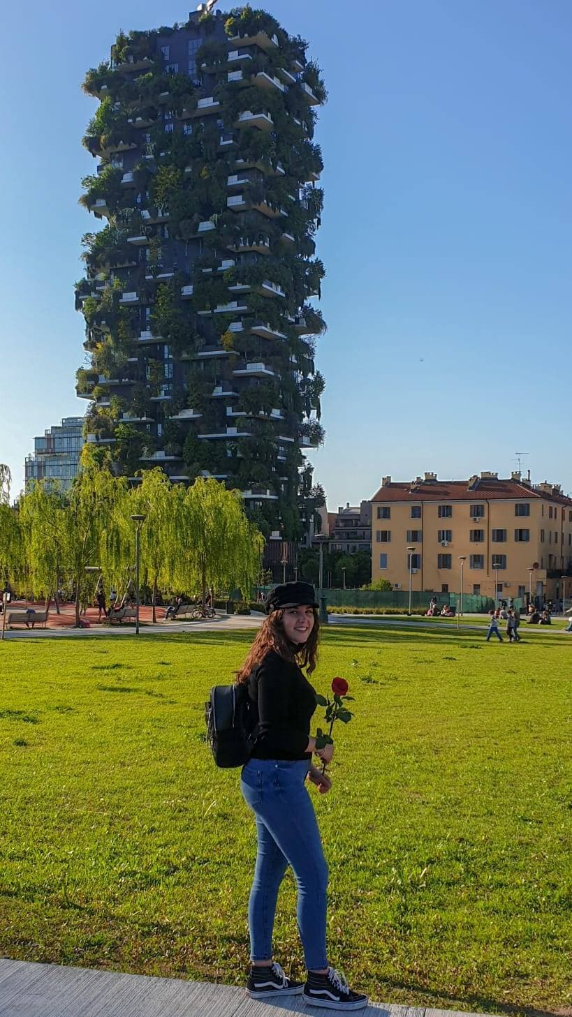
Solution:
M305 965L328 967L326 910L328 865L304 781L308 760L250 759L240 789L256 820L258 853L248 901L250 960L272 959L278 890L288 865L296 878L296 916Z

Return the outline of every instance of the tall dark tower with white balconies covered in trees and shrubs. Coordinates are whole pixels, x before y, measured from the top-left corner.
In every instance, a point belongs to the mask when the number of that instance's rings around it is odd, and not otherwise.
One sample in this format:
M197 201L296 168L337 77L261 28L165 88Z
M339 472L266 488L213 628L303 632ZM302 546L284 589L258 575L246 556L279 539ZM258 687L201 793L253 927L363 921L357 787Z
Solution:
M326 92L305 54L247 6L118 36L83 83L99 163L80 200L106 223L75 287L88 441L129 477L214 476L287 539L316 508L305 453L324 438L310 301Z

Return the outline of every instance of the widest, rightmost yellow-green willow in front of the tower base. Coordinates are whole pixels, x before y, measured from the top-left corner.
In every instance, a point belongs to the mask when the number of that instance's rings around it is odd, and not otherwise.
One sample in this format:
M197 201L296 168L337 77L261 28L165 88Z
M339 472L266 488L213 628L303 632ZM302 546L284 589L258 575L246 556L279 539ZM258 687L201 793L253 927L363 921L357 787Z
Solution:
M213 477L175 488L178 556L175 575L181 589L209 586L240 588L244 597L256 581L264 537L244 513L240 491L228 491Z

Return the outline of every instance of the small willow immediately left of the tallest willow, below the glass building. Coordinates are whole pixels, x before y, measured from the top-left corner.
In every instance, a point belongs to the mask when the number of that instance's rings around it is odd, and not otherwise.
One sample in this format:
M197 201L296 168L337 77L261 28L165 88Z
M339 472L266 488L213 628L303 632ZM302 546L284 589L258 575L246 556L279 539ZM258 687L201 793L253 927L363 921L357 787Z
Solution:
M53 597L59 613L57 591L67 566L64 497L43 481L33 481L18 510L27 588L35 599Z

